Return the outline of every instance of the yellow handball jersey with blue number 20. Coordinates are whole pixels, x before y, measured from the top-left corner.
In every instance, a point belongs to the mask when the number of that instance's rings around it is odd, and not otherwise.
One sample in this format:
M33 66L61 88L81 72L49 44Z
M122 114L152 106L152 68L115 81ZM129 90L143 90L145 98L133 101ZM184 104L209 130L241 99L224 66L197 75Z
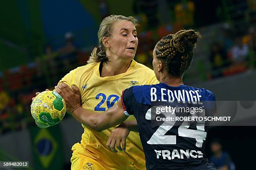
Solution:
M112 107L126 88L133 85L152 85L159 81L154 71L150 68L132 60L130 67L125 73L100 77L100 62L91 63L70 71L60 82L65 82L70 87L79 87L82 96L82 107L92 112L103 113ZM130 116L128 120L135 120ZM125 152L113 153L108 150L106 143L114 128L97 132L85 127L81 143L73 145L74 152L86 155L100 161L102 165L110 169L126 169L125 167L136 167L135 169L146 169L145 157L139 134L130 132L126 140ZM129 169L129 168L128 168ZM133 169L133 168L131 168Z

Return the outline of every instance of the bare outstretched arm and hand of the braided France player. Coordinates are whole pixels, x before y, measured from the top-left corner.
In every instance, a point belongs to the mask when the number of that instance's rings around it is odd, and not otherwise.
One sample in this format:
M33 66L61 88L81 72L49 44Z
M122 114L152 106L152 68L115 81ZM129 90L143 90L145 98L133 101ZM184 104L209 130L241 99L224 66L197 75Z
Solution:
M120 99L116 105L104 113L85 110L81 106L81 95L79 89L74 85L72 88L74 92L65 83L60 83L55 87L55 90L64 99L67 111L69 111L80 123L100 132L118 125L128 118L123 112L123 106Z

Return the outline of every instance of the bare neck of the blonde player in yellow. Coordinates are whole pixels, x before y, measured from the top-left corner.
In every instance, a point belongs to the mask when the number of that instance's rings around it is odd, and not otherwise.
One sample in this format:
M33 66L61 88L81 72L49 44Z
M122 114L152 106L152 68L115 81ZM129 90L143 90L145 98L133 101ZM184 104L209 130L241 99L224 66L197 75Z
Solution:
M130 60L111 60L109 62L104 62L102 65L101 77L114 76L124 73L130 67Z

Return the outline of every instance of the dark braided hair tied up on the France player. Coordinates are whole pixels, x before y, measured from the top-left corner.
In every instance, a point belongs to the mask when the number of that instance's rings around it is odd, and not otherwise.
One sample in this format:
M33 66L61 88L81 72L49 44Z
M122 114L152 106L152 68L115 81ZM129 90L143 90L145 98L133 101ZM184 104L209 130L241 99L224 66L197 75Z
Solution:
M169 74L183 75L193 59L193 51L200 33L195 30L179 30L175 35L163 37L156 45L156 57L165 60Z

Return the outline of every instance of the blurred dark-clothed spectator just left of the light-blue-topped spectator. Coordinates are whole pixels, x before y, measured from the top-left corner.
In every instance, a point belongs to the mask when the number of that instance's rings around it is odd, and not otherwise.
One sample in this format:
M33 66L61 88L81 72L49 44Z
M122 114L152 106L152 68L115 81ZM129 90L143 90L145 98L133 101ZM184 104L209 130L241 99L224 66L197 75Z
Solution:
M213 42L211 45L210 62L212 63L212 70L229 65L227 53L218 42Z

